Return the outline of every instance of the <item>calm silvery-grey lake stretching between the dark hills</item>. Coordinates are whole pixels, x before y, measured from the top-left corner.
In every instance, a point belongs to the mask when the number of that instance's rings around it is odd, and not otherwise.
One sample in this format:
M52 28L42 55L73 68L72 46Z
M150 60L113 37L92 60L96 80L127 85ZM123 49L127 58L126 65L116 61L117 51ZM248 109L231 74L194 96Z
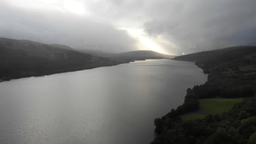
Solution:
M206 80L160 59L1 82L0 143L150 143L154 118Z

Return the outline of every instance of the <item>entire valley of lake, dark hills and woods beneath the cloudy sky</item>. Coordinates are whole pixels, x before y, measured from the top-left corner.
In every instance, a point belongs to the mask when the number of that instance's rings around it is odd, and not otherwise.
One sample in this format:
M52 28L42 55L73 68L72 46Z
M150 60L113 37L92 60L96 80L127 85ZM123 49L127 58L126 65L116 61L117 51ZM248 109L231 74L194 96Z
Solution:
M106 53L0 38L0 140L253 143L255 53Z

